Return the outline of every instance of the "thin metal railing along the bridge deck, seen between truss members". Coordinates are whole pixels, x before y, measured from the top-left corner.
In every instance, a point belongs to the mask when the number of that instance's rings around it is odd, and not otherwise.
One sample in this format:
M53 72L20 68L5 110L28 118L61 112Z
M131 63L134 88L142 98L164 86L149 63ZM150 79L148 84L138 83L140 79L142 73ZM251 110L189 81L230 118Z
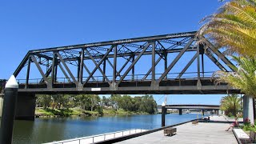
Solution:
M189 73L184 73L182 74L182 77L178 77L180 73L170 73L167 74L166 77L163 79L165 80L175 80L175 81L182 81L182 80L187 80L187 79L198 79L198 73L197 72L189 72ZM214 74L214 71L210 72L201 72L200 73L200 79L209 79L212 78L212 75ZM155 79L157 80L158 78L161 77L162 74L155 74ZM118 81L122 75L118 75L116 80ZM83 82L86 81L88 77L83 77L82 80ZM113 76L106 76L110 81L112 81ZM127 75L126 78L122 82L146 82L146 81L151 81L152 75L151 74L134 74L134 75ZM103 76L94 76L90 78L88 82L103 82L104 77ZM17 79L19 84L25 84L26 79ZM55 83L72 83L73 80L72 78L56 78ZM29 84L42 84L42 78L30 78L29 79Z

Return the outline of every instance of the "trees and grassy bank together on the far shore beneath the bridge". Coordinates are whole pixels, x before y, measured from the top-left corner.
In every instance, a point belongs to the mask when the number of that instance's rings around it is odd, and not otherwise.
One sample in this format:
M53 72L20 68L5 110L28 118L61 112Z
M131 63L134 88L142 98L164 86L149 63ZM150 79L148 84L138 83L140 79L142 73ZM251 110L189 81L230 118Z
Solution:
M157 103L152 95L112 94L38 94L35 117L102 116L114 114L156 114Z

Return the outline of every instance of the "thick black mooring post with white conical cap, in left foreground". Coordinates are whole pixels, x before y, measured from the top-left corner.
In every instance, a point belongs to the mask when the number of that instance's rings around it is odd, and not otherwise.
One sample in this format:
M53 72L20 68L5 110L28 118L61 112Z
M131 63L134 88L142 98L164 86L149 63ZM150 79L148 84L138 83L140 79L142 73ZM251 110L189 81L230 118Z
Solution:
M6 82L5 95L2 106L0 143L12 143L17 95L18 83L14 75L12 75L8 82Z

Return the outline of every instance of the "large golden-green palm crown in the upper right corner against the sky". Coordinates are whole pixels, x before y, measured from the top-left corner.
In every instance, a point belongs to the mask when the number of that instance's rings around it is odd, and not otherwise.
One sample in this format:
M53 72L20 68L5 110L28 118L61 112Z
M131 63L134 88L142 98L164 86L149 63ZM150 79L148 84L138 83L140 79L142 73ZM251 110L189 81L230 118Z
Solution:
M206 38L218 48L236 52L246 57L256 55L256 0L231 0L216 14L202 19L198 31L200 39Z

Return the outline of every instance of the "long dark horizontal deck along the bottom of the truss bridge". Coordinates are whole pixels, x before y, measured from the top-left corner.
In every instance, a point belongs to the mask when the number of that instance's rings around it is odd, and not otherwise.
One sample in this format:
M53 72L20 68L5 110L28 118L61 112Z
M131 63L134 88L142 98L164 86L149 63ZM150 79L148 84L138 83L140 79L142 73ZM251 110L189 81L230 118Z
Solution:
M159 86L152 86L151 81L125 81L120 83L116 90L111 89L107 82L89 82L84 87L79 88L74 83L58 82L51 89L46 83L32 83L25 87L19 85L19 92L26 93L84 93L84 94L237 94L240 90L235 90L222 83L215 86L210 79L201 79L202 86L198 88L197 79L167 79Z

